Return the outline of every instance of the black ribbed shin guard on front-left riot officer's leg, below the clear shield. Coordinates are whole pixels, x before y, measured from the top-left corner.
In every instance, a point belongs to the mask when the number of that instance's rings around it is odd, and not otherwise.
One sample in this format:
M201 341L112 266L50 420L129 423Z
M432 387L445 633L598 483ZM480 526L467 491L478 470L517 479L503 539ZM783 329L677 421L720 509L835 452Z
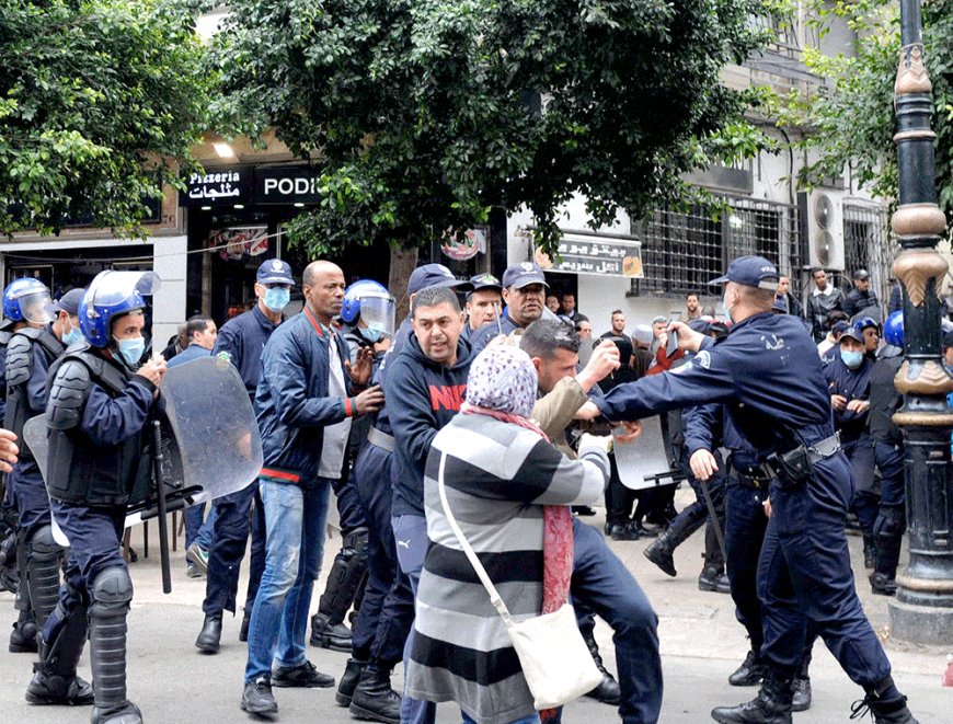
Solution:
M133 581L125 567L106 568L93 582L90 606L90 663L95 706L92 724L141 724L138 706L126 698L126 614Z

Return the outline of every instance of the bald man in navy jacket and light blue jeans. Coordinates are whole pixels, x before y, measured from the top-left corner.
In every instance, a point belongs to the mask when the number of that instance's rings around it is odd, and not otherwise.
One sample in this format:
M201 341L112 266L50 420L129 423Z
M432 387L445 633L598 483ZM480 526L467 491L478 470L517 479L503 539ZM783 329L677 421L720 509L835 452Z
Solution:
M334 686L334 678L305 656L311 589L321 571L329 493L342 474L351 420L383 404L379 388L352 393L352 383L363 388L370 379L370 354L358 354L351 365L347 343L331 326L344 299L344 273L330 262L312 262L302 290L305 309L265 346L255 394L267 540L241 700L253 715L278 711L272 685Z

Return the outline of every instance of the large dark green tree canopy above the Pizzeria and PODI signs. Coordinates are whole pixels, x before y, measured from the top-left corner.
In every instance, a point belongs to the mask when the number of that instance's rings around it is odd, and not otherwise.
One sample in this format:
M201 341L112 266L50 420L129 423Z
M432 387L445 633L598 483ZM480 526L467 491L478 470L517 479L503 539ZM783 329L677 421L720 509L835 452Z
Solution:
M232 133L274 126L319 163L291 230L315 252L425 244L490 209L596 223L686 198L684 172L751 147L725 64L762 0L234 0L217 36ZM577 221L578 223L582 220Z

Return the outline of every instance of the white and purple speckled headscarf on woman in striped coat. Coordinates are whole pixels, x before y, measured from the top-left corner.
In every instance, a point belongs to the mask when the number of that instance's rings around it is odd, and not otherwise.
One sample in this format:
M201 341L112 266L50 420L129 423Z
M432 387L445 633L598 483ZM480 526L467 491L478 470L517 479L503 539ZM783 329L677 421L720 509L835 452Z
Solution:
M470 366L467 402L529 417L536 404L537 384L536 368L528 354L512 345L490 345Z

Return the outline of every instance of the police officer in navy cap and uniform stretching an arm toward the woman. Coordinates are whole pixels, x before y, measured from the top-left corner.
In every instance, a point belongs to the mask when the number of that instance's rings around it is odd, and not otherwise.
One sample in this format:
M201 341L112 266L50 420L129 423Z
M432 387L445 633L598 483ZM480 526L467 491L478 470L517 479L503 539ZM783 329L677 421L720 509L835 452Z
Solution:
M850 678L863 687L877 724L916 720L891 678L891 665L854 588L843 518L852 495L850 463L834 434L820 359L804 326L772 314L778 269L760 256L728 266L724 308L734 324L713 342L675 324L679 346L698 352L677 374L623 384L596 400L610 421L638 420L687 404L723 402L777 481L758 571L766 674L758 697L712 711L717 722L785 724L801 663L806 618ZM588 404L588 403L587 403Z

